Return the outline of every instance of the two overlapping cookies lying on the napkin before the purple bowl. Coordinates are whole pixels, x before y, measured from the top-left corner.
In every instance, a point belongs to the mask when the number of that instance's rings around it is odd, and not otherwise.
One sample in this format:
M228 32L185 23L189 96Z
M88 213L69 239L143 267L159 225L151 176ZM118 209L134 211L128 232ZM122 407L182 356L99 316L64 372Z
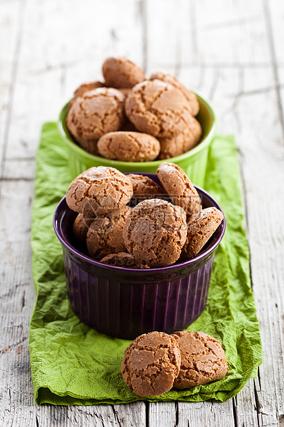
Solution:
M195 331L144 333L127 347L121 363L125 384L140 397L206 384L227 371L221 343Z

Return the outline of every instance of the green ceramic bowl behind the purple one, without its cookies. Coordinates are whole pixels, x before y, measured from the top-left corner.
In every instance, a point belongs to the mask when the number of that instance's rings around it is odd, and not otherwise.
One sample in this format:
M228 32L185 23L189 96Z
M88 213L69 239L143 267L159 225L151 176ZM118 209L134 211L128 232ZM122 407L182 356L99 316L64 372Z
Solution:
M208 103L208 101L206 101L199 94L197 94L197 98L200 105L200 110L197 114L197 120L201 124L203 133L203 137L200 143L189 152L186 152L181 156L166 160L155 160L153 162L120 162L118 160L110 160L109 158L94 156L93 154L87 153L83 148L79 147L79 145L74 142L74 139L72 138L72 135L67 128L67 103L59 115L58 131L61 134L63 140L65 140L66 147L69 151L69 167L72 179L76 178L76 176L78 176L81 172L89 169L89 167L92 166L111 166L116 167L116 169L120 170L121 172L136 171L145 173L150 172L155 174L160 163L167 161L182 167L182 169L184 169L190 180L192 180L195 185L204 187L208 149L215 136L217 119L210 103Z

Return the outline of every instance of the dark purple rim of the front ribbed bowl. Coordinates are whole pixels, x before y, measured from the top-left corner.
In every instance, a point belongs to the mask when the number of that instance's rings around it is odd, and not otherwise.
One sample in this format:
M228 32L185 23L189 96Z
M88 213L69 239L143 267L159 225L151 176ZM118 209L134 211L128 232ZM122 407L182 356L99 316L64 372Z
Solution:
M133 172L133 173L137 173L137 172ZM150 174L149 173L147 175L156 175L156 174ZM195 188L197 189L198 192L200 191L201 195L204 194L207 198L209 198L210 201L212 201L213 204L216 205L217 209L219 209L223 213L223 210L221 209L219 203L215 200L215 198L213 198L206 190L202 189L201 187L198 187L197 185L195 185ZM93 258L90 258L89 256L84 255L84 253L81 253L80 251L78 251L76 248L74 248L72 246L72 244L70 244L67 240L65 240L65 238L63 238L62 233L61 233L61 227L58 227L58 216L59 216L59 212L61 210L63 210L61 205L65 204L66 207L68 209L70 209L68 207L65 199L66 199L66 196L63 196L63 198L61 198L60 202L58 202L58 205L56 206L56 209L54 211L53 227L54 227L54 231L56 233L56 237L61 242L63 247L65 247L65 249L67 249L69 252L71 252L77 258L80 258L80 260L83 260L84 262L92 264L95 267L100 267L101 269L106 269L106 270L140 271L140 273L142 273L143 275L147 275L149 273L164 273L166 271L175 271L177 269L188 267L192 264L195 264L195 262L198 262L202 258L206 258L206 256L208 256L210 253L215 251L215 249L219 246L221 240L223 239L224 233L226 231L226 218L225 218L225 215L223 213L223 220L221 222L221 224L223 224L223 229L221 231L221 235L219 236L217 241L214 244L212 244L212 246L210 248L206 249L206 251L202 252L200 255L197 255L195 258L192 258L191 260L187 260L184 262L179 262L179 264L171 264L171 265L168 265L166 267L157 267L155 269L152 269L152 268L151 269L132 269L132 268L127 268L127 267L118 267L116 265L104 264L103 262L96 261ZM70 209L70 210L72 210L72 209ZM64 215L65 215L65 213L64 213Z

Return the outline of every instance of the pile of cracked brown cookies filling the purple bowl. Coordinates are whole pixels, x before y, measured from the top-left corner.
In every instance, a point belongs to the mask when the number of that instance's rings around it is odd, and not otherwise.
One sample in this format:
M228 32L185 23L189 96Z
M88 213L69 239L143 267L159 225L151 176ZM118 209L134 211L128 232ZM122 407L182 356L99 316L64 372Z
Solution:
M166 267L194 258L221 224L223 213L202 209L199 194L173 163L148 176L91 167L69 185L66 202L78 212L75 245L91 258L118 267Z

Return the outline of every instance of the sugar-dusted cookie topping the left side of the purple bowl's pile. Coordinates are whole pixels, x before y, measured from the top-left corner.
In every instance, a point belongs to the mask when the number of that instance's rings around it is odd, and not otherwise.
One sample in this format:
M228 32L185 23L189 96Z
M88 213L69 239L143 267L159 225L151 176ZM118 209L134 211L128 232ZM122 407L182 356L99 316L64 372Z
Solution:
M104 215L127 205L133 196L130 178L114 167L91 167L69 185L66 202L76 212Z

